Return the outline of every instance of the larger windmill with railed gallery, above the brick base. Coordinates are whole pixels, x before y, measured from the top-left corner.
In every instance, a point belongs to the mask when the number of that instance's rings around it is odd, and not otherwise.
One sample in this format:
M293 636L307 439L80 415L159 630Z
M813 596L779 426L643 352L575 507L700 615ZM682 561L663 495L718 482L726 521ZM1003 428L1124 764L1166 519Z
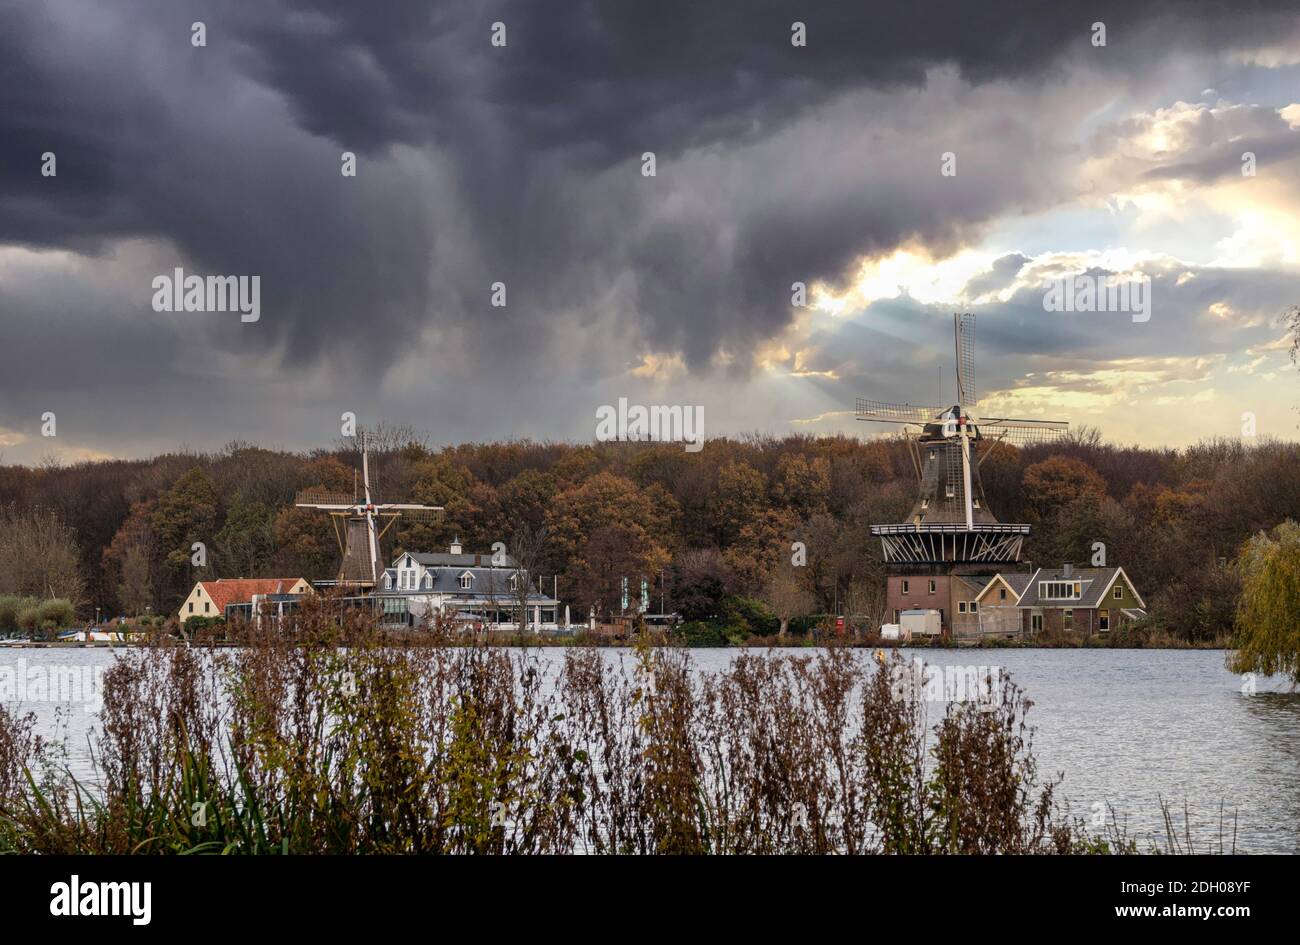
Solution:
M858 399L858 420L897 424L914 434L907 443L920 478L916 504L904 524L871 526L890 564L1018 562L1030 526L993 516L984 502L979 467L1000 443L1049 442L1069 429L1057 420L976 416L974 333L974 315L953 316L957 403L952 407Z

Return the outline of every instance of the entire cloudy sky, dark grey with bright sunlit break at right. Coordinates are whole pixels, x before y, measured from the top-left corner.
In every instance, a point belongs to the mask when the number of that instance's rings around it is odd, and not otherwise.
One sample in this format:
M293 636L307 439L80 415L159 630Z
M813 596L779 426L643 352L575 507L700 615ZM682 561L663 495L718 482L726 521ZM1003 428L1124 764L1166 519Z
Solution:
M0 0L0 451L872 435L954 311L987 412L1294 439L1297 211L1287 3ZM260 318L155 311L178 266ZM1132 272L1148 321L1044 311Z

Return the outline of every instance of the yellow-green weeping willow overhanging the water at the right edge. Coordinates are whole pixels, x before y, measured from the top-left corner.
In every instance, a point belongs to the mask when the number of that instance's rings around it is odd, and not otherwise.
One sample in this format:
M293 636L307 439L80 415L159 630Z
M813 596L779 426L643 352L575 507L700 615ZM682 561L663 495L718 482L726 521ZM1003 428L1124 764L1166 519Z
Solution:
M1287 520L1242 546L1242 601L1232 672L1286 673L1300 682L1300 525Z

